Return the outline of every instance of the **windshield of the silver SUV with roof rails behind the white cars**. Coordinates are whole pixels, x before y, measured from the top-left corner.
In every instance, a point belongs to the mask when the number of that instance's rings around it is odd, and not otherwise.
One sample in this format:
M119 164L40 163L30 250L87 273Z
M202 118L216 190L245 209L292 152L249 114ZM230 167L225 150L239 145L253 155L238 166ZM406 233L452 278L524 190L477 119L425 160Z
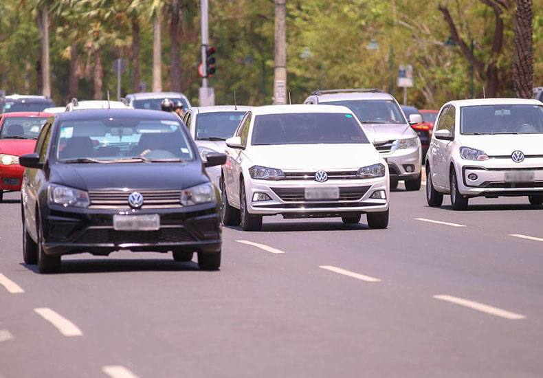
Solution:
M326 105L342 105L351 109L362 123L406 124L401 111L392 100L345 100L321 102Z

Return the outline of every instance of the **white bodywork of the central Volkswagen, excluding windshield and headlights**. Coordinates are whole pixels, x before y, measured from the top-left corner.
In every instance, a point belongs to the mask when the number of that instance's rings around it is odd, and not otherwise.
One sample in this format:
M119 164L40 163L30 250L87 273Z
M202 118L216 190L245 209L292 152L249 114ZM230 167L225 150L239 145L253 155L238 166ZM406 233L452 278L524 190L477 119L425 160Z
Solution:
M254 145L255 122L261 115L300 115L302 113L343 114L356 122L366 142L267 144ZM271 118L270 118L271 119ZM278 123L278 133L281 125ZM358 133L358 131L357 131ZM246 138L242 142L242 137ZM232 144L240 142L241 148ZM346 107L311 105L282 105L256 107L247 112L234 137L227 140L227 161L223 166L223 206L260 218L282 214L285 218L346 217L358 219L360 214L386 214L388 224L389 177L385 160L364 133L352 111ZM254 167L281 170L282 179L253 178ZM382 176L362 179L357 171L362 167L379 166ZM318 182L325 172L327 181ZM320 177L322 179L322 177ZM246 203L243 203L242 191ZM339 192L335 199L308 200L309 192L330 190ZM258 199L259 196L267 199ZM376 198L376 194L379 198ZM320 196L320 194L318 194ZM326 194L328 195L328 194ZM373 198L370 198L372 197ZM224 213L223 213L224 214ZM345 220L344 220L345 221ZM357 221L345 221L357 223ZM369 215L368 215L368 223ZM226 224L226 223L225 223ZM371 227L371 225L370 225ZM386 225L384 226L386 227ZM376 227L376 228L384 228ZM257 227L258 228L258 227Z

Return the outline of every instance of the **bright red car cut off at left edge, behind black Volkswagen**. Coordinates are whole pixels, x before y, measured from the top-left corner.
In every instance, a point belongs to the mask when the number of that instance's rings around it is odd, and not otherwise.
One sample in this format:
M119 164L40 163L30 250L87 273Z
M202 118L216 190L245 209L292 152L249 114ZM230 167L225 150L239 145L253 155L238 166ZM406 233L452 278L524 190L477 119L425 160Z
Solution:
M19 156L33 153L38 134L51 113L20 112L0 114L0 201L3 192L21 190L25 168Z

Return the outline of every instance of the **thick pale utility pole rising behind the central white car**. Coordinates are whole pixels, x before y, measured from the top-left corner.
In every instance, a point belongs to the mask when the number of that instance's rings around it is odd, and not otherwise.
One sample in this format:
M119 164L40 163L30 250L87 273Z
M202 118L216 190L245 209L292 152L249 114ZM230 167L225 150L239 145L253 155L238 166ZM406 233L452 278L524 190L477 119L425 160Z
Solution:
M287 103L287 0L275 0L274 105Z

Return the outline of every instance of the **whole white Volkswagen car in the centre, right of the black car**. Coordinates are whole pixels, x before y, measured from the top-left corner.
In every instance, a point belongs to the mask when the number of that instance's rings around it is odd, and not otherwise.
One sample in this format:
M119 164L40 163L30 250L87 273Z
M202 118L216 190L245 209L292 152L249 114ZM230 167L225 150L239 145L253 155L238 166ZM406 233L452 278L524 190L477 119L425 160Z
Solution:
M223 223L261 230L262 217L341 217L388 226L388 167L346 107L284 105L248 111L221 188Z

